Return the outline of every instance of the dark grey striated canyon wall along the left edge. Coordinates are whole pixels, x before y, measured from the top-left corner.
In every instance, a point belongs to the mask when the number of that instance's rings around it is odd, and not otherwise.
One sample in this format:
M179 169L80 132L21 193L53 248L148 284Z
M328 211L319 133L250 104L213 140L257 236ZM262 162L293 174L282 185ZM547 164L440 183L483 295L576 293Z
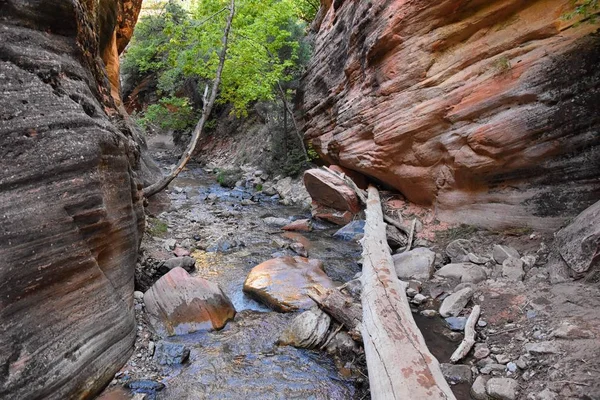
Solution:
M116 10L0 3L0 398L90 397L132 351L151 173L100 58Z

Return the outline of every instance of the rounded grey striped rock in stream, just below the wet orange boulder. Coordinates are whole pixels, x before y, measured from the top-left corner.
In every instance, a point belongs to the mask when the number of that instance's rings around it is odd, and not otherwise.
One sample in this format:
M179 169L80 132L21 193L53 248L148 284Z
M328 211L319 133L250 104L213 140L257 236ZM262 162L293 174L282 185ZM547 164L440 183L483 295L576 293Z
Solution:
M298 315L290 326L283 331L278 343L304 349L314 349L327 338L331 318L319 309L313 307Z

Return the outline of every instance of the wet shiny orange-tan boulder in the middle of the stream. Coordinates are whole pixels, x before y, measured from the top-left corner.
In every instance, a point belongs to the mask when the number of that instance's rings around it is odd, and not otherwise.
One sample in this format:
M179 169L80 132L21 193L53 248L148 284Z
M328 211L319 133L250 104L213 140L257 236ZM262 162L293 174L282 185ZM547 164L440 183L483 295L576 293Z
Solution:
M323 263L304 257L280 257L252 268L244 282L244 293L276 311L309 309L315 302L308 296L315 285L335 287L323 272Z

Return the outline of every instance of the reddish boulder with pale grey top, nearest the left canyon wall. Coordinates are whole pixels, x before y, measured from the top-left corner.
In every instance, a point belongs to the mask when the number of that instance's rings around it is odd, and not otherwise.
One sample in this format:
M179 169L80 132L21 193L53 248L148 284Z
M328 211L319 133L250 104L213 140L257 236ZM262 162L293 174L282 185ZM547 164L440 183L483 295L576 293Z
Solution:
M235 316L219 285L174 268L144 293L148 320L162 337L225 326Z

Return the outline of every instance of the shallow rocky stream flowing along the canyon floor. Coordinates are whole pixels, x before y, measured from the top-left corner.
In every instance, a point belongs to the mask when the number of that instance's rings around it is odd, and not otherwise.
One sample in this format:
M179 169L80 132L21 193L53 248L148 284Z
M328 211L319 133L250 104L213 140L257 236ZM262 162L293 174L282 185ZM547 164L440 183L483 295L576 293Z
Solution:
M277 196L253 189L221 187L215 175L189 166L170 185L170 208L159 214L168 232L163 238L145 235L143 247L156 258L169 258L165 238L192 244L197 250L195 274L218 283L237 315L224 329L167 338L190 348L189 361L160 367L164 389L150 399L366 399L368 382L361 366L334 362L324 351L278 346L276 341L295 313L271 311L246 296L243 283L263 261L294 256L286 244L300 242L310 258L322 260L335 282L351 280L360 271L361 246L333 238L339 227L315 221L312 232L284 232L266 217L293 221L310 218L299 207L279 204ZM417 318L434 355L447 359L456 343L439 333L440 322ZM441 321L441 320L439 320ZM156 338L158 339L158 338ZM446 360L440 359L440 362ZM466 389L466 392L465 390ZM468 386L454 386L459 399L468 399ZM100 398L131 398L119 386Z

